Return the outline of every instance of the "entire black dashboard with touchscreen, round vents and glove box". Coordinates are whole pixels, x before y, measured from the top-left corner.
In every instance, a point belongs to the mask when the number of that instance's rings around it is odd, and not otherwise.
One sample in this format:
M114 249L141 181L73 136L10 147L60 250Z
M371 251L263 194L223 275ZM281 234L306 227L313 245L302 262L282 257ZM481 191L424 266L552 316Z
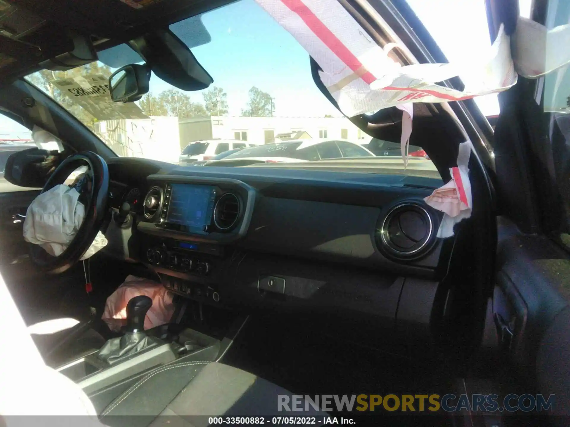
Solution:
M194 301L429 336L453 249L424 202L441 180L140 162L109 162L112 207L138 203L109 255Z

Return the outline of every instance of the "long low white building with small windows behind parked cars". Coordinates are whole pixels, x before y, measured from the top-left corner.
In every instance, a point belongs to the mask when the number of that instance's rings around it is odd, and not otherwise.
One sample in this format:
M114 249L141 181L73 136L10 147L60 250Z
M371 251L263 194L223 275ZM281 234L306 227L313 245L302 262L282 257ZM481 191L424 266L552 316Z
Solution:
M345 117L193 117L181 119L180 145L203 139L240 139L254 144L303 139L348 139L369 142L367 134Z

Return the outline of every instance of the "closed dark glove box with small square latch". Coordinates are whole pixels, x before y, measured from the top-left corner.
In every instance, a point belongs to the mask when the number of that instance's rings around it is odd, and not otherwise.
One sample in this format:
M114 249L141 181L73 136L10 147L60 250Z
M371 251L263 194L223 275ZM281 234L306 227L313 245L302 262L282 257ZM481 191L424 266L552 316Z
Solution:
M404 339L429 338L440 306L437 281L349 265L249 253L230 274L235 280L221 292L234 305L316 315L329 325L349 319Z

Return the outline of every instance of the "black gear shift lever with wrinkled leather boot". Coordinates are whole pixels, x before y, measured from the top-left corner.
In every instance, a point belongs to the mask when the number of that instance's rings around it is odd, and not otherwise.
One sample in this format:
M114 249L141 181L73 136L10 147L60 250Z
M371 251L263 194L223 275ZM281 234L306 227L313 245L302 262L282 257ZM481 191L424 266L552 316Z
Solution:
M152 299L146 295L131 298L127 303L125 335L109 339L97 352L97 357L112 364L157 346L160 340L146 336L144 331L144 319L150 307L152 307Z

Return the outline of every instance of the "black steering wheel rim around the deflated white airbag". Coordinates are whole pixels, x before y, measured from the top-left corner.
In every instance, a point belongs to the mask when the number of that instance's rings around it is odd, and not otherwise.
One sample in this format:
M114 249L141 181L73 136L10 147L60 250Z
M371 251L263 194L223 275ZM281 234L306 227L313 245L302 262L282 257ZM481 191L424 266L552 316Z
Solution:
M87 166L83 178L74 184L85 206L85 217L69 246L59 256L51 256L39 245L31 244L30 258L46 273L63 273L80 260L99 232L107 213L109 170L107 163L91 151L83 151L66 158L51 174L42 193L63 184L78 167Z

